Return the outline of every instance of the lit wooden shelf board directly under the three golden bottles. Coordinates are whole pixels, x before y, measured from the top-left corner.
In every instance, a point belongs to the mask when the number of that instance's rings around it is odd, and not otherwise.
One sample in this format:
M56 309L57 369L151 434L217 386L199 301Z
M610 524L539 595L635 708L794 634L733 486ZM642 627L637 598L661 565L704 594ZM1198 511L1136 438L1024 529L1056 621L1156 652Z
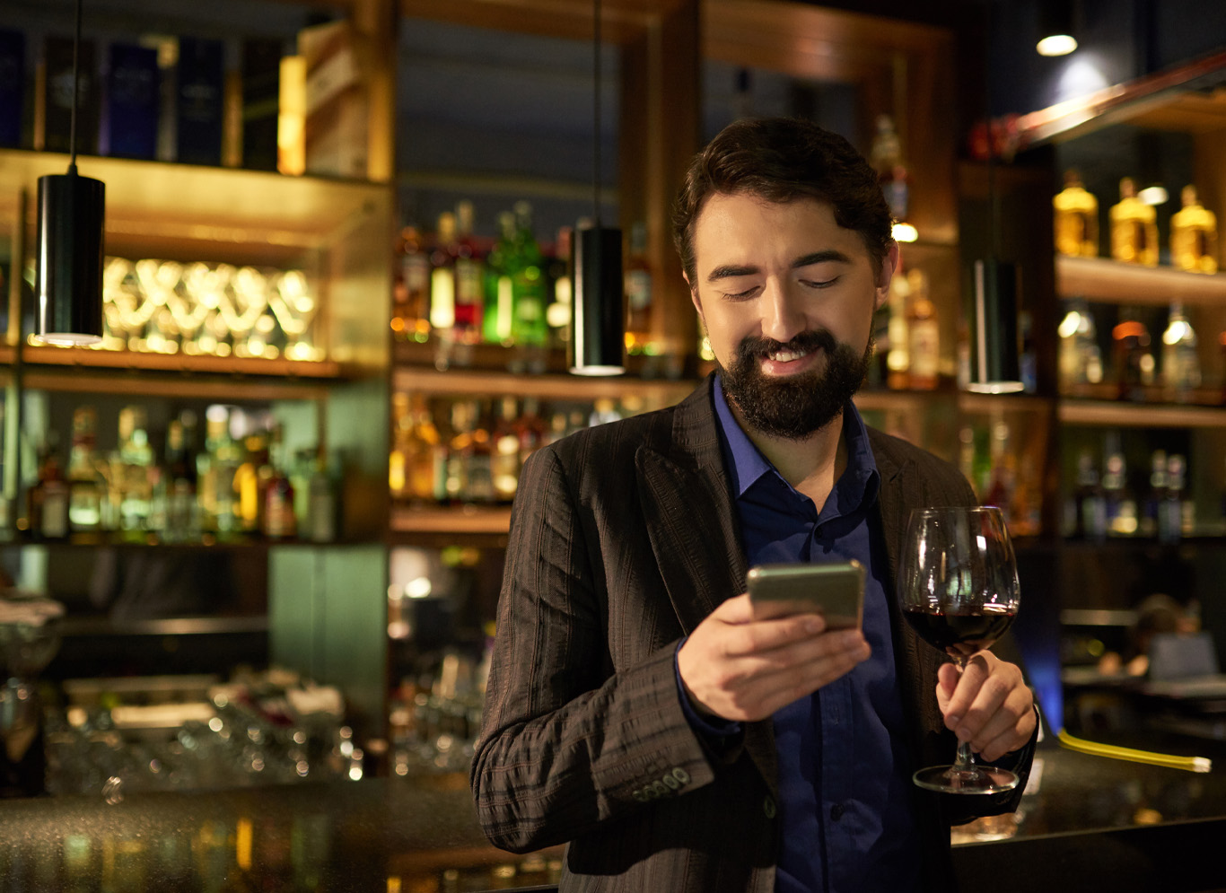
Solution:
M1226 272L1197 274L1170 266L1122 264L1110 258L1056 258L1056 293L1110 304L1166 307L1226 303Z

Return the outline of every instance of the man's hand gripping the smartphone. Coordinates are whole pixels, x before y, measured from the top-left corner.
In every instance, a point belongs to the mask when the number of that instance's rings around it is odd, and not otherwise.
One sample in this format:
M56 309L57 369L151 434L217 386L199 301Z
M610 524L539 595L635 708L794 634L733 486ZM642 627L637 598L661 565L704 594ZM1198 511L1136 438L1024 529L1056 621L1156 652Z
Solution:
M677 653L677 667L699 711L743 722L766 719L867 660L859 629L826 632L820 615L754 619L738 595L720 605Z

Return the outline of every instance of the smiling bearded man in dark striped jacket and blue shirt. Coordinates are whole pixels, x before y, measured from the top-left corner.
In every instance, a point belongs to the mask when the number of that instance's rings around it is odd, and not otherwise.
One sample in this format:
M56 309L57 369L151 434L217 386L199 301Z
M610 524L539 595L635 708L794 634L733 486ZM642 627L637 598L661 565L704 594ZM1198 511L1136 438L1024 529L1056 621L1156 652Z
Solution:
M851 402L890 222L842 137L727 128L673 215L717 374L524 469L472 785L497 845L570 843L563 891L945 891L949 823L1020 797L910 780L955 736L1025 774L1036 720L1016 666L959 677L895 604L910 510L973 494ZM755 619L748 567L847 558L862 630Z

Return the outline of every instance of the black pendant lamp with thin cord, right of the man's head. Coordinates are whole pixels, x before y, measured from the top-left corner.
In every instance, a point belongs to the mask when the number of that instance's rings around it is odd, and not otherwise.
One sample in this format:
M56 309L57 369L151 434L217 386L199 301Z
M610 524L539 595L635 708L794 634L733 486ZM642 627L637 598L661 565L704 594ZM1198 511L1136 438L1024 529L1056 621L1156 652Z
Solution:
M991 12L984 26L991 50ZM971 380L977 394L1016 394L1021 383L1021 342L1018 336L1018 266L1000 260L1000 197L996 190L996 146L992 142L992 53L984 54L983 77L988 121L988 255L973 264L971 302Z

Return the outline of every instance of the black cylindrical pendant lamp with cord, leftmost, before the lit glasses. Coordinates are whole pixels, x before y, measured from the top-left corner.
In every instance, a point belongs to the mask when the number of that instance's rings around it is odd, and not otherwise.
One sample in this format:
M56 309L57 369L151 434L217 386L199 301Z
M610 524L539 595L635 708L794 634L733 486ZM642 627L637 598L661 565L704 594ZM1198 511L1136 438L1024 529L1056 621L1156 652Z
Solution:
M69 172L38 178L34 258L38 318L34 334L40 341L53 345L102 341L102 240L107 186L102 180L77 175L76 171L80 48L81 0L77 0Z

